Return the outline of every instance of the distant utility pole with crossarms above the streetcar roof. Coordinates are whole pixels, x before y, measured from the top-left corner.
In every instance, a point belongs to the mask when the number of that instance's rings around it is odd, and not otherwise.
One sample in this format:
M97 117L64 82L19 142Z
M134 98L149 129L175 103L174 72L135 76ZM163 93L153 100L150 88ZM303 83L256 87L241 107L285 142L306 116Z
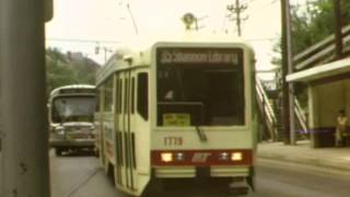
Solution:
M242 13L248 8L247 4L242 4L240 0L236 0L235 5L229 4L228 10L230 11L229 18L232 21L236 21L237 26L237 35L242 36L242 21L248 20L248 15L245 18L242 18ZM235 16L234 16L235 15Z

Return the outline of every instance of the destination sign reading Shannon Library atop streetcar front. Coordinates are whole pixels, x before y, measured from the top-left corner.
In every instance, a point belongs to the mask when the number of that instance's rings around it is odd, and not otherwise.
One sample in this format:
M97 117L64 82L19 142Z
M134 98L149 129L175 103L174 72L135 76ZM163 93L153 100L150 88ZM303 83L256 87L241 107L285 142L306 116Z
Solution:
M168 49L159 50L159 62L238 65L241 50L233 49Z

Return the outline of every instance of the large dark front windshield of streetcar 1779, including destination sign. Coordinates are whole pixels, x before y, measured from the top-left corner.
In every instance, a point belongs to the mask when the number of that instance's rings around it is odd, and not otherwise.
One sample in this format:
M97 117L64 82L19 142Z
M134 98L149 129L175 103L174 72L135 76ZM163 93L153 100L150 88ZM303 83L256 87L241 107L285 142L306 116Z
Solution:
M242 50L165 50L158 51L159 126L245 124Z

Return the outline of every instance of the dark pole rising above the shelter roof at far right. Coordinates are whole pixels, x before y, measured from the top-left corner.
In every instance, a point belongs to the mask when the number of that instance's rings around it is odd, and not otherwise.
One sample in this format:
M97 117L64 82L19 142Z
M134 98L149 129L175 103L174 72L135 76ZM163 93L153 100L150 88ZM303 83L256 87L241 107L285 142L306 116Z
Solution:
M334 0L334 9L335 9L335 24L336 24L336 58L341 59L343 57L342 54L342 19L341 19L341 3L340 0Z

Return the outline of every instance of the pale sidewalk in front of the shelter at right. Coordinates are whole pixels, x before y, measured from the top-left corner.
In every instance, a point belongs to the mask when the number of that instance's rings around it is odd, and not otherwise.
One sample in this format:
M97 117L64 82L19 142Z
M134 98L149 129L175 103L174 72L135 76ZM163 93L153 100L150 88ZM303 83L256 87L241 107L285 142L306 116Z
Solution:
M310 141L299 141L296 146L283 142L261 142L258 144L258 158L316 165L350 171L350 148L311 147Z

